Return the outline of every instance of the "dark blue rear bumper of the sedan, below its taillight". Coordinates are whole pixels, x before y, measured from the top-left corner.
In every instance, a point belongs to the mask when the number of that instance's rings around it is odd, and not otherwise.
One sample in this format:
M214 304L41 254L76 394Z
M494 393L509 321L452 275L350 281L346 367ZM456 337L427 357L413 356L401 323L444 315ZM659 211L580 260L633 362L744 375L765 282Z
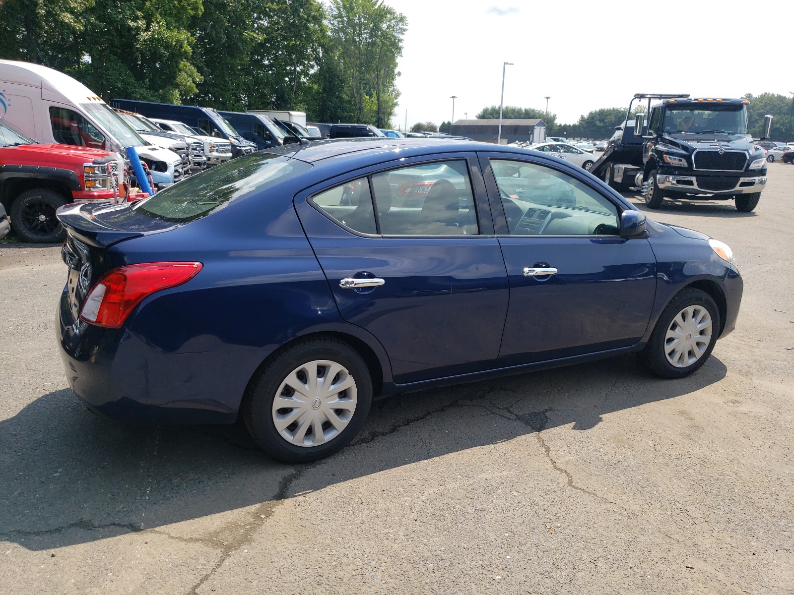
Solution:
M258 351L168 353L126 328L72 322L64 290L56 315L60 358L72 390L114 420L145 424L232 424ZM248 362L247 360L250 360Z

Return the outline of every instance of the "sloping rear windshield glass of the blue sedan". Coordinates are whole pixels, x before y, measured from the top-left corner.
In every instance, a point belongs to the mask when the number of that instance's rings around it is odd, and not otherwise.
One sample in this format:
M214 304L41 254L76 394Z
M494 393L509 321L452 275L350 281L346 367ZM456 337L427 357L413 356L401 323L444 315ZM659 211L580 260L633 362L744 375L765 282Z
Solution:
M193 221L256 190L302 174L311 165L283 155L256 152L191 175L133 206L165 221Z

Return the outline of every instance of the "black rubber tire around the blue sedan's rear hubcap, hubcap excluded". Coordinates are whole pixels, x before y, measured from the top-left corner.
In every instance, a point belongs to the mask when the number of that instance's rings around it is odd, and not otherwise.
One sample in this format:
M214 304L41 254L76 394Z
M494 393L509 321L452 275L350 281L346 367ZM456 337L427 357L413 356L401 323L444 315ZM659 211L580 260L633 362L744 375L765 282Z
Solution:
M276 422L273 420L273 401L276 398L276 391L287 376L303 364L314 360L329 360L345 367L356 382L357 403L353 417L337 436L317 446L299 446L291 443L276 429ZM318 367L318 374L319 370ZM287 390L287 387L284 390ZM289 397L289 394L285 396ZM242 415L251 436L268 455L284 463L310 463L333 455L353 440L363 427L371 405L372 378L364 359L348 344L336 339L323 338L291 345L266 363L257 372L256 378L249 387L242 405ZM285 409L286 413L289 411ZM281 409L276 411L279 412ZM290 427L287 426L285 431ZM310 432L313 433L313 429ZM310 432L307 432L306 436L310 436Z

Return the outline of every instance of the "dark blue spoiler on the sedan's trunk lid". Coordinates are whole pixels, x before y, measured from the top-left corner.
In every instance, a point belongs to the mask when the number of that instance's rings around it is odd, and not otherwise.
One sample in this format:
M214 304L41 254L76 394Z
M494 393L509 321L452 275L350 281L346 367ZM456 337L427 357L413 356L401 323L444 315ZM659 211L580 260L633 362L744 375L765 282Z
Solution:
M174 223L135 213L129 203L64 205L56 211L56 217L72 236L95 248L108 248L122 240L177 227Z

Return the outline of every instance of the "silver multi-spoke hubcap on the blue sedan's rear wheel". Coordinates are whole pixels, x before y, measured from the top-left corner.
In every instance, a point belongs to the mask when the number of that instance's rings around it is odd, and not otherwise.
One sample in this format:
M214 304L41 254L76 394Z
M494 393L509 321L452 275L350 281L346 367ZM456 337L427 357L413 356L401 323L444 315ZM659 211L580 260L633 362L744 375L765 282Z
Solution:
M313 447L333 440L353 419L356 381L340 363L315 359L292 370L273 399L273 423L284 440Z

